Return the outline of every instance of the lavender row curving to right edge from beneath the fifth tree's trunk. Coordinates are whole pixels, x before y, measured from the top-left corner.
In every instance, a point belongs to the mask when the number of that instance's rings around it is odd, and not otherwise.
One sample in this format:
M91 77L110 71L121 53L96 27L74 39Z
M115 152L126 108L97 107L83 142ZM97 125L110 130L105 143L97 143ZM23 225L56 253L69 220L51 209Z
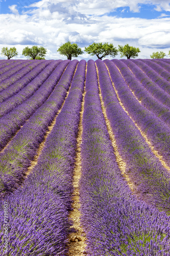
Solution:
M169 107L170 96L168 93L157 86L157 84L152 82L151 79L149 79L149 77L145 75L137 65L135 65L135 62L126 60L121 61L127 65L127 67L133 72L134 76L139 80L142 86L147 89L153 95L153 97L155 97L155 99Z

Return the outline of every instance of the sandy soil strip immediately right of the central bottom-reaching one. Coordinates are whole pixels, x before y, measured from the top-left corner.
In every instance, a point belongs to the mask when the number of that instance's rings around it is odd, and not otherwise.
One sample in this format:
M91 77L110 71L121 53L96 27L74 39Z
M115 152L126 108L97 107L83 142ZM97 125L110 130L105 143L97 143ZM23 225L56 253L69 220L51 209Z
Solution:
M113 131L112 131L111 126L110 126L110 121L107 118L106 109L105 109L105 106L104 106L104 101L102 99L101 87L100 87L100 82L99 82L99 71L98 71L98 67L96 66L96 63L95 63L95 67L96 67L96 71L97 71L97 75L98 75L99 97L100 97L100 100L101 100L102 111L103 111L103 115L104 115L104 118L105 118L105 121L106 121L109 137L110 137L110 140L112 142L114 154L115 154L115 157L116 157L116 162L117 162L118 167L119 167L119 169L122 173L122 176L126 179L126 181L129 185L129 187L131 188L132 192L134 192L135 185L131 182L131 180L129 179L129 176L125 173L126 163L123 161L122 157L120 156L120 154L118 152L116 140L115 140Z

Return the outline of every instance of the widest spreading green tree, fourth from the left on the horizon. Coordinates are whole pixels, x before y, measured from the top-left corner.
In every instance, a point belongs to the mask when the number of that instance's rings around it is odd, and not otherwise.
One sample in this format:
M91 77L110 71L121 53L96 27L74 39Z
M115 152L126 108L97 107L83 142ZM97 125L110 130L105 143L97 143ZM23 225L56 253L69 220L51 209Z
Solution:
M108 42L105 42L104 44L102 44L102 42L93 42L92 45L85 47L85 52L91 54L91 56L96 55L98 59L102 59L107 55L115 57L118 50L113 46L113 44L109 45ZM100 54L102 54L102 56L99 56Z

